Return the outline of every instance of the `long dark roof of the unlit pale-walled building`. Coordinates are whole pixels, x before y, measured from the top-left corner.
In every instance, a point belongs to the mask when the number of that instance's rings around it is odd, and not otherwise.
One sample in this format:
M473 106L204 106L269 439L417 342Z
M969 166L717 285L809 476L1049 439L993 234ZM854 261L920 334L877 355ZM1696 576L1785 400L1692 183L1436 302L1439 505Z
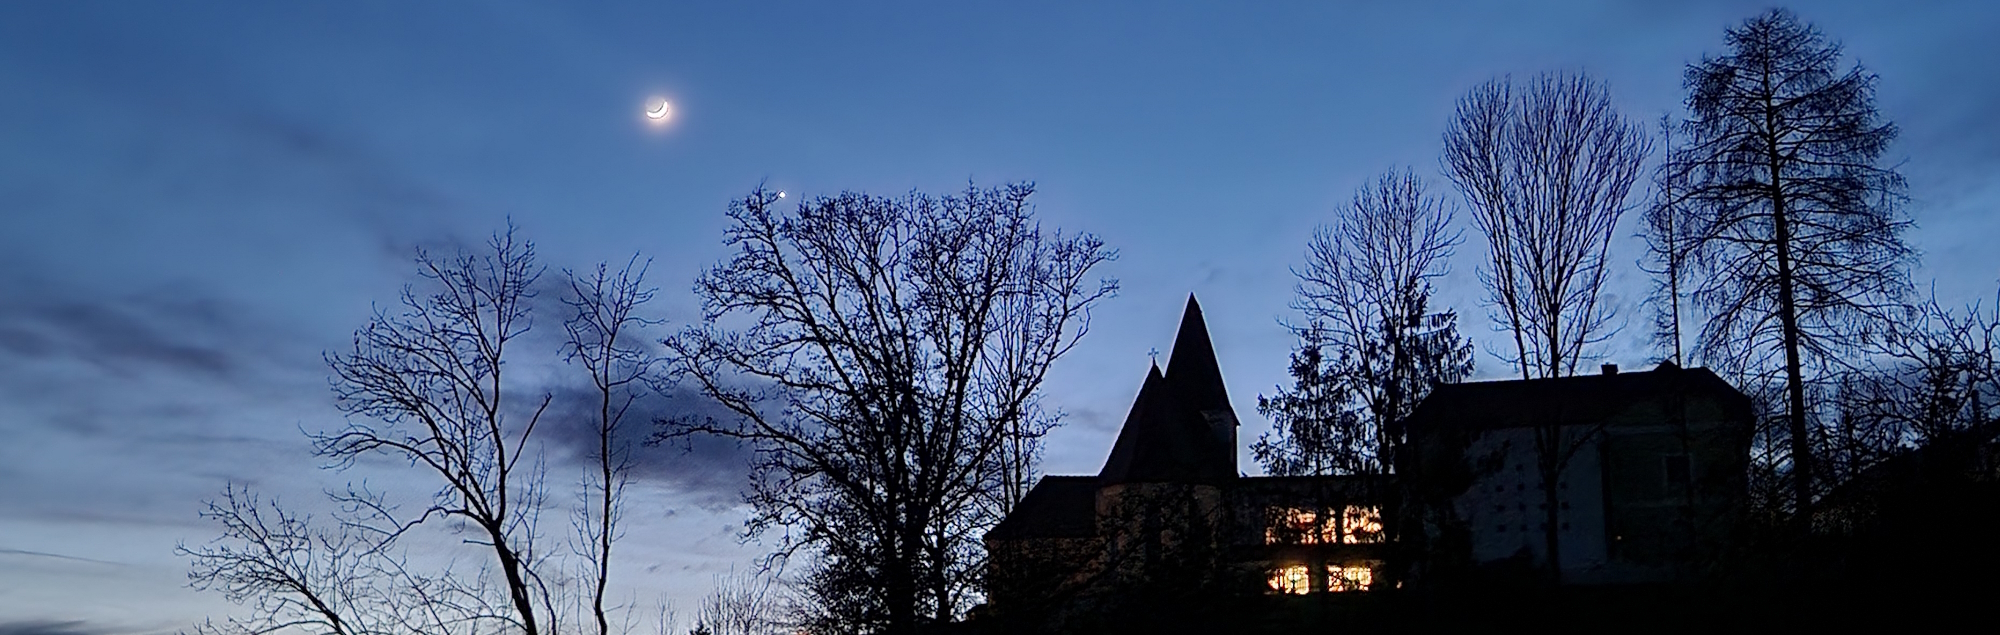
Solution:
M1714 371L1660 363L1638 373L1444 383L1410 413L1408 429L1594 425L1676 389L1686 397L1718 399L1730 415L1750 417L1750 397Z

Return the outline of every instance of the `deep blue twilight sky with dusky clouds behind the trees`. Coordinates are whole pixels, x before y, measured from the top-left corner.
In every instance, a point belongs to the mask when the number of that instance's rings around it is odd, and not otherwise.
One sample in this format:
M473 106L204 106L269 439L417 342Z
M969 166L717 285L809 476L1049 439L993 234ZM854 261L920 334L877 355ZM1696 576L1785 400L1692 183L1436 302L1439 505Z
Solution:
M1200 296L1244 443L1284 381L1290 266L1376 174L1438 176L1452 102L1586 70L1640 120L1760 2L8 2L0 4L0 635L160 633L232 607L176 541L226 481L300 507L396 465L318 469L320 353L414 280L412 250L512 218L552 270L654 258L656 318L724 256L722 210L794 194L1034 180L1124 290L1058 361L1046 471L1094 473L1148 349ZM1880 74L1918 286L2000 282L2000 6L1794 6ZM648 96L674 100L664 130ZM1638 200L1634 198L1634 204ZM1466 224L1460 214L1460 224ZM1622 236L1636 228L1628 216ZM1436 304L1492 343L1468 232ZM1612 250L1640 365L1644 274ZM554 331L560 316L544 314ZM558 373L552 355L540 371ZM528 359L524 363L540 363ZM1478 375L1504 373L1482 353ZM560 389L560 385L558 385ZM670 401L654 407L670 409ZM570 459L552 445L552 471ZM1244 469L1256 471L1244 457ZM744 569L740 451L648 455L622 571L682 607ZM428 485L412 485L428 487ZM614 579L614 585L618 581ZM650 609L646 609L650 611Z

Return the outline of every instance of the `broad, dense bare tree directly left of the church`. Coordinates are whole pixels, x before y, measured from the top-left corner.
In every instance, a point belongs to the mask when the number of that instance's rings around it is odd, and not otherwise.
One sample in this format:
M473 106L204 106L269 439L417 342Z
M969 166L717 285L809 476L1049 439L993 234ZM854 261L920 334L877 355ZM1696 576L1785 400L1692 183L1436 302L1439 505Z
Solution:
M932 198L842 194L730 206L736 254L696 282L710 325L666 339L734 411L680 433L748 439L750 531L846 567L856 631L950 621L980 571L976 537L1026 493L1050 363L1116 290L1094 236L1042 232L1028 184ZM724 329L736 323L740 329Z

